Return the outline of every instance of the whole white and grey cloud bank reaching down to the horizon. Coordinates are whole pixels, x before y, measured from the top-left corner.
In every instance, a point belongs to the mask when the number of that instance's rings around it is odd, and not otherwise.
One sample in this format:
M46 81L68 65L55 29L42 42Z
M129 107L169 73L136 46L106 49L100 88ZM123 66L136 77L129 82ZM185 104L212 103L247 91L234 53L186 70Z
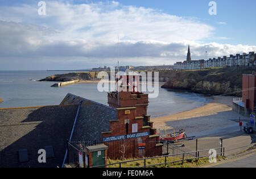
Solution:
M197 18L144 7L56 1L47 1L46 7L46 16L37 14L38 6L0 7L0 69L14 61L19 68L38 64L39 69L50 64L69 69L114 65L118 36L123 65L174 64L185 59L188 44L193 60L204 59L205 51L215 57L256 50L247 45L199 43L212 38L214 27Z

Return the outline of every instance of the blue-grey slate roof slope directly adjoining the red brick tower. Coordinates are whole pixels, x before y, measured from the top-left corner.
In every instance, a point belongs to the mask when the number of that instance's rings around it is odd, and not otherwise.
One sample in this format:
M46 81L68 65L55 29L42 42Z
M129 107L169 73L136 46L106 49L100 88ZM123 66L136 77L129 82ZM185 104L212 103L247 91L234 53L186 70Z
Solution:
M68 93L61 105L80 105L72 141L100 141L101 132L108 132L109 121L117 120L117 110L113 107L102 105Z

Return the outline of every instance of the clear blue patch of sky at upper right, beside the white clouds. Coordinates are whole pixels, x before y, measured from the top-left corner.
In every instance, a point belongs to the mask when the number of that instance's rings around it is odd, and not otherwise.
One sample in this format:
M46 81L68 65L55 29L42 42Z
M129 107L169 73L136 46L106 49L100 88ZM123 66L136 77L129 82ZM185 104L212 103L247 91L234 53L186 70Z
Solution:
M84 1L77 1L84 2ZM93 1L96 2L96 1ZM254 0L218 0L217 15L209 15L209 2L208 0L125 0L118 1L123 5L131 5L137 7L146 7L152 9L162 10L163 13L177 15L177 16L193 16L199 18L201 22L210 24L216 27L214 34L218 37L228 39L205 39L209 43L216 41L217 43L229 44L245 44L255 45L256 29L255 17L256 1ZM218 24L225 22L226 24Z

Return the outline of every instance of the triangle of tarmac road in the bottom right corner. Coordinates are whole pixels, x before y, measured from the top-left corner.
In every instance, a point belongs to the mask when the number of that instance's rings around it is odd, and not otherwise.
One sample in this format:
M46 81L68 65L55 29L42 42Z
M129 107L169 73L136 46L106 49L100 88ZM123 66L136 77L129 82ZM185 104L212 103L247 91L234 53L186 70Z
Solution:
M231 160L228 163L216 164L211 168L256 168L256 153L238 159Z

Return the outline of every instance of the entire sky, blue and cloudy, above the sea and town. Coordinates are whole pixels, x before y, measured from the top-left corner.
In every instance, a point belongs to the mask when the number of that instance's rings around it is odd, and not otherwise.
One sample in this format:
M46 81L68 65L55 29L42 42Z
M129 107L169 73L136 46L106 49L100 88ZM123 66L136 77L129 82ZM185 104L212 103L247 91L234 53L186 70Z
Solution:
M256 51L255 0L0 1L0 70L173 65ZM43 8L44 9L44 8Z

